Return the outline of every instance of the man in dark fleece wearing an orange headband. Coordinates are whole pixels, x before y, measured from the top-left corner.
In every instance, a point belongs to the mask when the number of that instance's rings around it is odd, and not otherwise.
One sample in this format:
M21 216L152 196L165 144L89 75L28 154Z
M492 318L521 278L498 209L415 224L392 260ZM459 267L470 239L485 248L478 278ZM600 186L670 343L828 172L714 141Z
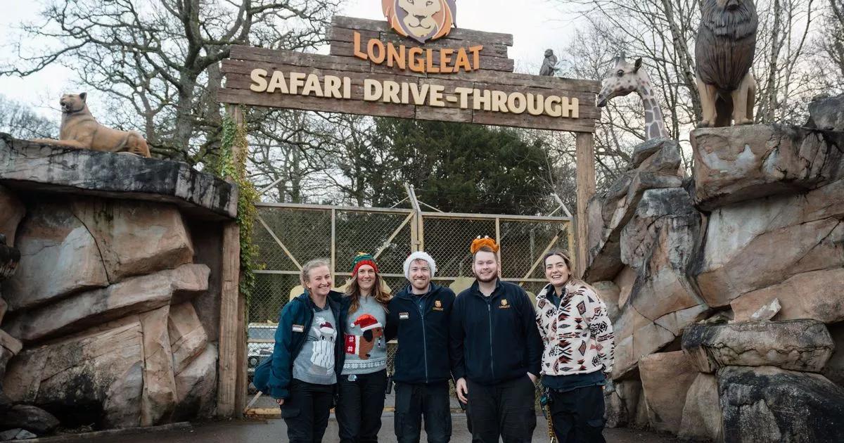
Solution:
M472 242L475 282L452 307L449 346L457 397L467 404L473 441L529 442L542 339L524 289L499 278L498 245Z

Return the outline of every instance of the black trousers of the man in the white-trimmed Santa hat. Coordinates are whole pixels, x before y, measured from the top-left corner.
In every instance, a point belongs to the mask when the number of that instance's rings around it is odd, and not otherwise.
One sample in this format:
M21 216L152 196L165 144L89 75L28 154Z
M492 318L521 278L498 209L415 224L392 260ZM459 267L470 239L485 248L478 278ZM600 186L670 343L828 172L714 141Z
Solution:
M396 383L394 425L398 443L419 443L423 415L428 443L447 443L452 440L448 381L413 385Z

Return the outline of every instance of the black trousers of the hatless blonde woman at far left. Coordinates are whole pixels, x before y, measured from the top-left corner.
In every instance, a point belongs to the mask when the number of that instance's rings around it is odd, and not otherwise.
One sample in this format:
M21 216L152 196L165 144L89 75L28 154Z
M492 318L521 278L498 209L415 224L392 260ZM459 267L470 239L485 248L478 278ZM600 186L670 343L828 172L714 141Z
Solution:
M334 402L334 385L315 385L293 379L290 397L281 405L281 417L287 424L290 443L322 441Z

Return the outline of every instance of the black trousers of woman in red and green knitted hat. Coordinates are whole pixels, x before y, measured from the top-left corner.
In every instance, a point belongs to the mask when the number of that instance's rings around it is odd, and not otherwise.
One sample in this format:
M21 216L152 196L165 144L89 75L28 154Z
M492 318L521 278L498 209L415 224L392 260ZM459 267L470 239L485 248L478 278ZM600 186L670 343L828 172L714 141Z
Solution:
M341 443L376 443L384 411L387 370L372 374L343 375L339 381L340 397L334 414L340 428Z

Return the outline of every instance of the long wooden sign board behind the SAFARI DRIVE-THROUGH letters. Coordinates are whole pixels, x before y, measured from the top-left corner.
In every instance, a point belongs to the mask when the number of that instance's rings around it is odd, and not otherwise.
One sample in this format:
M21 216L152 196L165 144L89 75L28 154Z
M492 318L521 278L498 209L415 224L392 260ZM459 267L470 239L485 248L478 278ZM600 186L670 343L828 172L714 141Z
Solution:
M302 54L248 46L232 46L230 57L230 60L223 61L221 68L225 73L225 89L219 90L218 100L224 103L570 132L594 132L595 121L601 116L598 107L595 106L595 94L600 84L591 80L490 71L420 74L370 65L370 62L354 57ZM500 57L493 58L506 60ZM314 74L318 78L325 78L328 75L338 78L348 77L349 95L347 98L338 99L320 97L316 94L289 95L279 91L275 93L252 91L251 73L257 68L268 73L279 71ZM416 105L413 100L405 100L403 103L387 103L383 99L364 100L366 79L377 82L415 84L417 88L423 88L425 84L445 86L443 92L445 103L435 106L427 101ZM471 94L466 96L468 100L466 106L460 107L461 99L455 92L457 87L479 89L486 91L485 94L491 94L490 91L495 90L506 95L520 93L522 97L527 94L532 94L534 97L538 95L567 97L572 101L577 100L578 118L555 117L545 113L533 116L527 111L517 114L510 111L475 110L473 109L474 98Z

